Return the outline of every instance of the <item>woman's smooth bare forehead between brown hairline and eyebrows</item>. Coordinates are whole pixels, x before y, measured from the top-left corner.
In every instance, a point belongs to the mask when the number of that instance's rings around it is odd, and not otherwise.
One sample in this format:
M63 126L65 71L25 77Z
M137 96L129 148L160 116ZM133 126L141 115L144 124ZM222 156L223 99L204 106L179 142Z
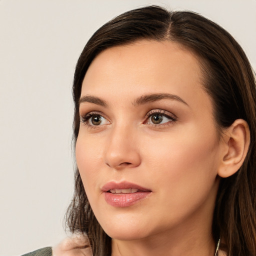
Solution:
M193 52L167 40L140 40L98 54L86 72L81 96L131 99L161 92L176 94L189 102L191 96L208 97L201 77L199 60Z

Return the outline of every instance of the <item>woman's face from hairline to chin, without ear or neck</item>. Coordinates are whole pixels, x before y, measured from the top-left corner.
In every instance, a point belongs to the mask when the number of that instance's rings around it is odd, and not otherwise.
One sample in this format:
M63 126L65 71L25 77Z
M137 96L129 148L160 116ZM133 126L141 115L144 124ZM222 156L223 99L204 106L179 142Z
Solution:
M210 229L221 140L201 77L194 54L170 41L108 48L90 64L75 152L109 236Z

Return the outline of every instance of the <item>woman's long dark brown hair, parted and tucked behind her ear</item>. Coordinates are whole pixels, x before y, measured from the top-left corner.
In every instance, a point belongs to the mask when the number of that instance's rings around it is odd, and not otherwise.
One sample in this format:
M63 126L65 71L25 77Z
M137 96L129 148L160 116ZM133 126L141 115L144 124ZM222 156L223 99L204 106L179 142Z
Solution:
M201 62L204 86L211 96L216 126L230 126L235 119L247 121L250 146L240 169L219 184L212 234L225 243L227 255L256 255L256 95L249 61L234 38L216 23L191 11L168 11L146 6L127 11L101 26L85 45L73 81L74 142L79 132L79 98L88 66L102 50L139 39L171 40L193 51ZM72 232L86 233L94 256L111 254L111 238L97 222L75 171L74 197L67 210Z

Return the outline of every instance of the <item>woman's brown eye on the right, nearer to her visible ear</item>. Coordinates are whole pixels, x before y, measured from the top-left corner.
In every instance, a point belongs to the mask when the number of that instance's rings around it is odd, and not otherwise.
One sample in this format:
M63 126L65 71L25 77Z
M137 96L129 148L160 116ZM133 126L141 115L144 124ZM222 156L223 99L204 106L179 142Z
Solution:
M151 110L147 113L146 124L165 124L168 122L174 122L176 120L176 116L167 112L165 110Z

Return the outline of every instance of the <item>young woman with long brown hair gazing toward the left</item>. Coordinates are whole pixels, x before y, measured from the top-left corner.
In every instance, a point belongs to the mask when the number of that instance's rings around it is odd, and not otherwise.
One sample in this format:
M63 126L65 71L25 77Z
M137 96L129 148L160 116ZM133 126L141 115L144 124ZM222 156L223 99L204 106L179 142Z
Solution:
M81 236L53 254L256 255L255 80L229 33L125 12L85 45L73 99Z

